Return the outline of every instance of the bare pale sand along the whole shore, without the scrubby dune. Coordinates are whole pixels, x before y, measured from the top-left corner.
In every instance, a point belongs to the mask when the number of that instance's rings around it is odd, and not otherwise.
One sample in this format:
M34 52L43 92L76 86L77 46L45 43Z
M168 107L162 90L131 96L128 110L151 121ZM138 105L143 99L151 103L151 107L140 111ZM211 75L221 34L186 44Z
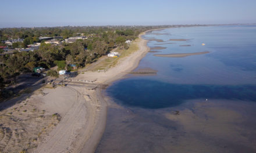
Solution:
M134 70L147 54L150 48L147 47L147 40L141 38L144 33L140 34L139 41L136 41L139 49L120 59L115 67L109 68L106 72L83 72L74 78L87 81L96 80L93 85L97 88L85 88L85 86L79 83L74 84L74 82L67 83L67 87L63 89L76 94L74 96L76 100L73 100L71 104L65 99L53 100L54 94L45 96L47 100L44 100L41 107L47 111L58 112L61 114L62 120L49 133L45 141L38 145L35 152L95 151L105 130L108 105L101 90L113 81L124 77L127 72ZM62 87L58 88L57 90L63 90ZM58 96L62 95L63 93L58 93ZM52 101L54 101L54 105Z

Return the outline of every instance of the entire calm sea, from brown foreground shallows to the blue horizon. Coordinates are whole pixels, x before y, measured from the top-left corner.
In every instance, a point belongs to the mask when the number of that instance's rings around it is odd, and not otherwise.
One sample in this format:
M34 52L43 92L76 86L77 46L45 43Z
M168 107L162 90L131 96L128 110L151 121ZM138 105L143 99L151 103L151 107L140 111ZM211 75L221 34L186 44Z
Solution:
M96 152L256 152L256 26L166 28L109 86ZM235 139L235 140L234 140Z

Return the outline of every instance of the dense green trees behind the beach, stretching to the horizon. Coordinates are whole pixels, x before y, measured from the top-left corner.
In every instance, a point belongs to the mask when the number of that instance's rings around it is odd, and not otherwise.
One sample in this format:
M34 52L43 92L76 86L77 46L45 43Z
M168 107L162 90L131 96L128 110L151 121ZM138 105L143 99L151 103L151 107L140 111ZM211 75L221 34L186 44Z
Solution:
M41 43L33 52L5 53L1 48L0 53L0 90L16 83L20 74L31 72L34 67L51 69L58 66L58 70L70 69L67 65L75 64L76 67L85 67L112 49L118 49L123 56L136 47L126 43L134 41L138 34L154 28L172 26L108 26L108 27L41 27L41 28L2 28L0 29L0 46L6 47L5 41L10 39L23 39L23 42L13 42L8 49L27 48L28 45ZM77 39L73 43L64 40L70 37L83 36L86 39ZM62 43L54 45L45 43L42 37L58 38ZM52 72L51 72L51 75ZM55 75L56 76L56 75ZM0 93L0 94L1 94Z

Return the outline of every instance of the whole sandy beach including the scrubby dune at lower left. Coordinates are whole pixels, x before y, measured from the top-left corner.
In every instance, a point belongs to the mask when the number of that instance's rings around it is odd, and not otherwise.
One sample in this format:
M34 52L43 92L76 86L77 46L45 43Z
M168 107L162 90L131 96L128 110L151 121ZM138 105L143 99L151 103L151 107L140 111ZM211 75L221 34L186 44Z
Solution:
M1 103L0 152L94 152L106 126L102 89L133 71L150 50L143 34L132 42L136 49L123 51L107 71L80 71L56 88L39 80L37 88Z

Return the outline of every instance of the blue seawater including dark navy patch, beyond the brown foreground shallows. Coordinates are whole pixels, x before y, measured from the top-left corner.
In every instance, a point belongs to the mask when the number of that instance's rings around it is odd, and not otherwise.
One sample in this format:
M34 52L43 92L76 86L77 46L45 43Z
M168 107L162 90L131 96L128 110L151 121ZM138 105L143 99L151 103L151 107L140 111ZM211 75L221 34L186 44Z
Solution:
M137 68L150 67L158 71L157 75L131 76L113 83L106 92L118 103L164 108L189 99L256 101L256 26L168 28L148 32L144 38L162 39L150 41L148 46L166 48L148 53ZM209 53L176 58L154 56L204 51Z

